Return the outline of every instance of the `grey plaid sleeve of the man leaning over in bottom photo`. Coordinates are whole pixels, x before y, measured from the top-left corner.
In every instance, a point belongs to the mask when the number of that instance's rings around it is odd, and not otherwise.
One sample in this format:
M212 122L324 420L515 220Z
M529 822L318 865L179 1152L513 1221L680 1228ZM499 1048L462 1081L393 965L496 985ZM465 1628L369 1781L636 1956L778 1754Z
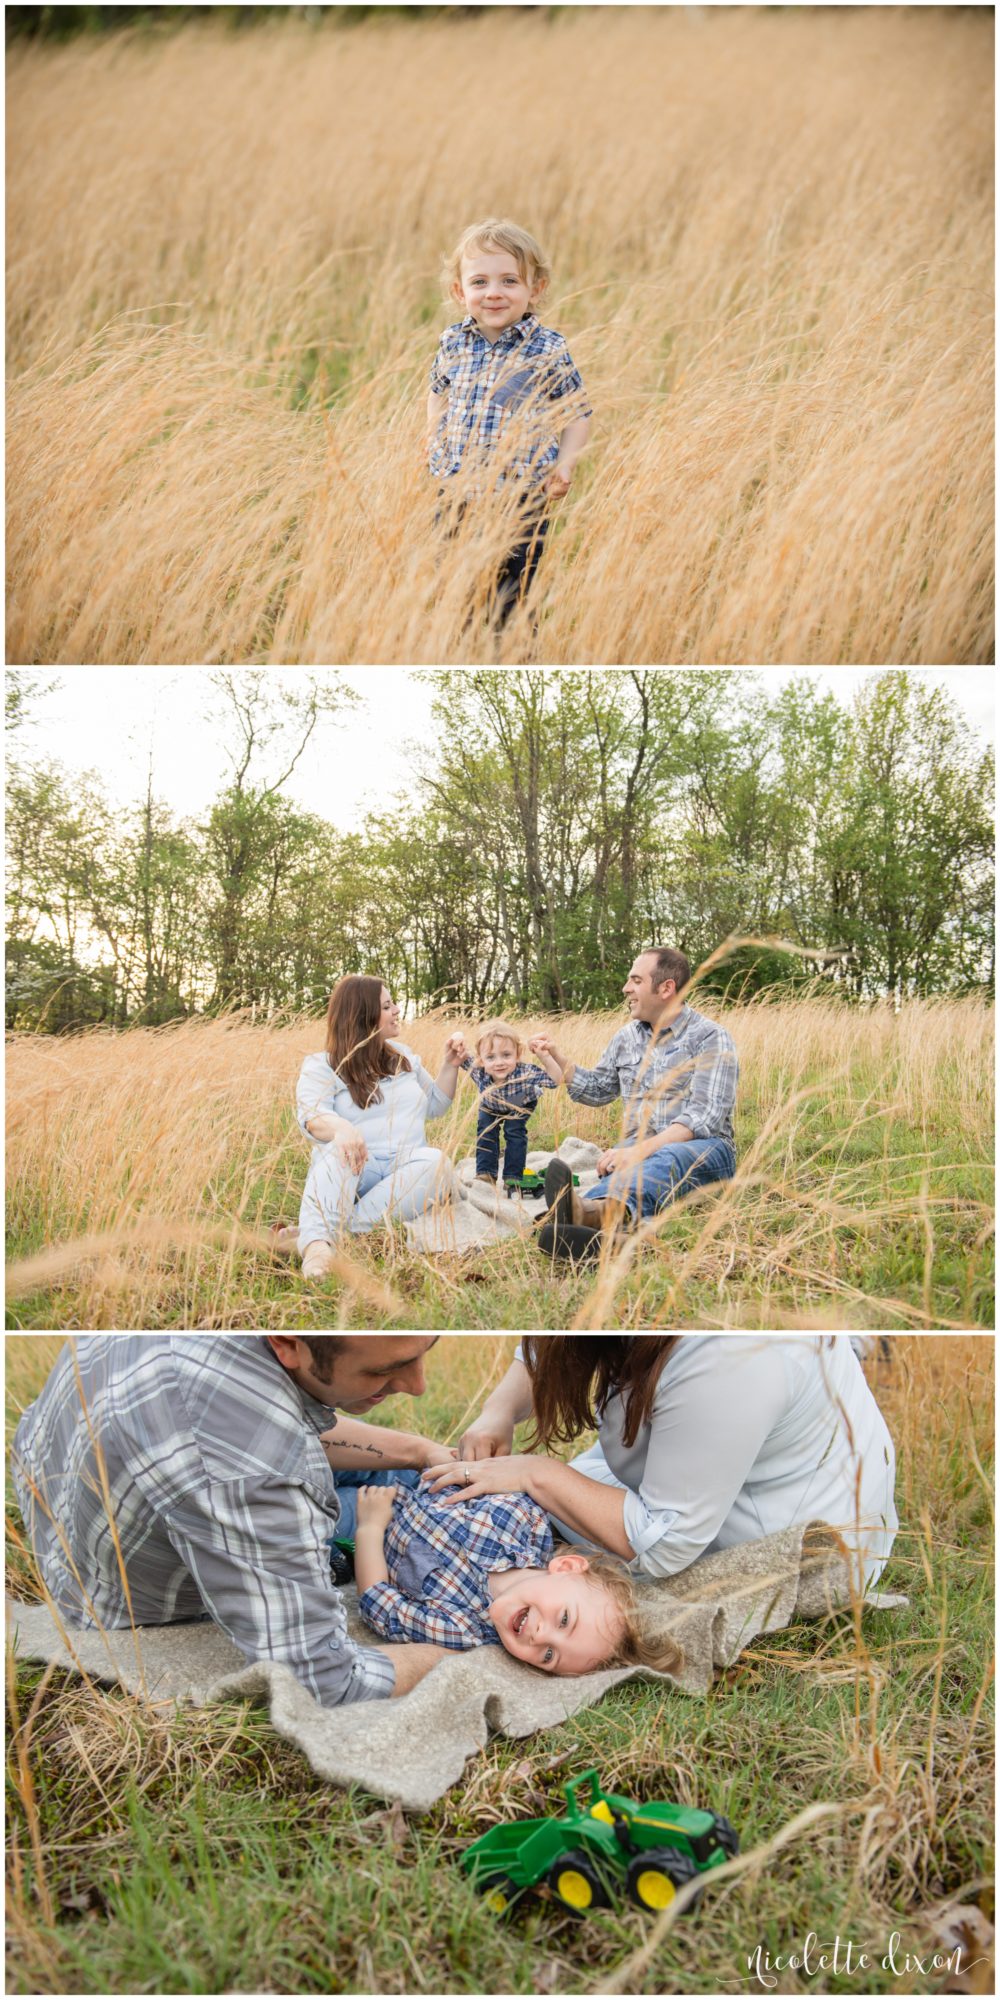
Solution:
M304 1486L206 1478L160 1520L206 1612L248 1662L288 1666L324 1708L394 1692L392 1660L348 1638L326 1546L332 1516Z

